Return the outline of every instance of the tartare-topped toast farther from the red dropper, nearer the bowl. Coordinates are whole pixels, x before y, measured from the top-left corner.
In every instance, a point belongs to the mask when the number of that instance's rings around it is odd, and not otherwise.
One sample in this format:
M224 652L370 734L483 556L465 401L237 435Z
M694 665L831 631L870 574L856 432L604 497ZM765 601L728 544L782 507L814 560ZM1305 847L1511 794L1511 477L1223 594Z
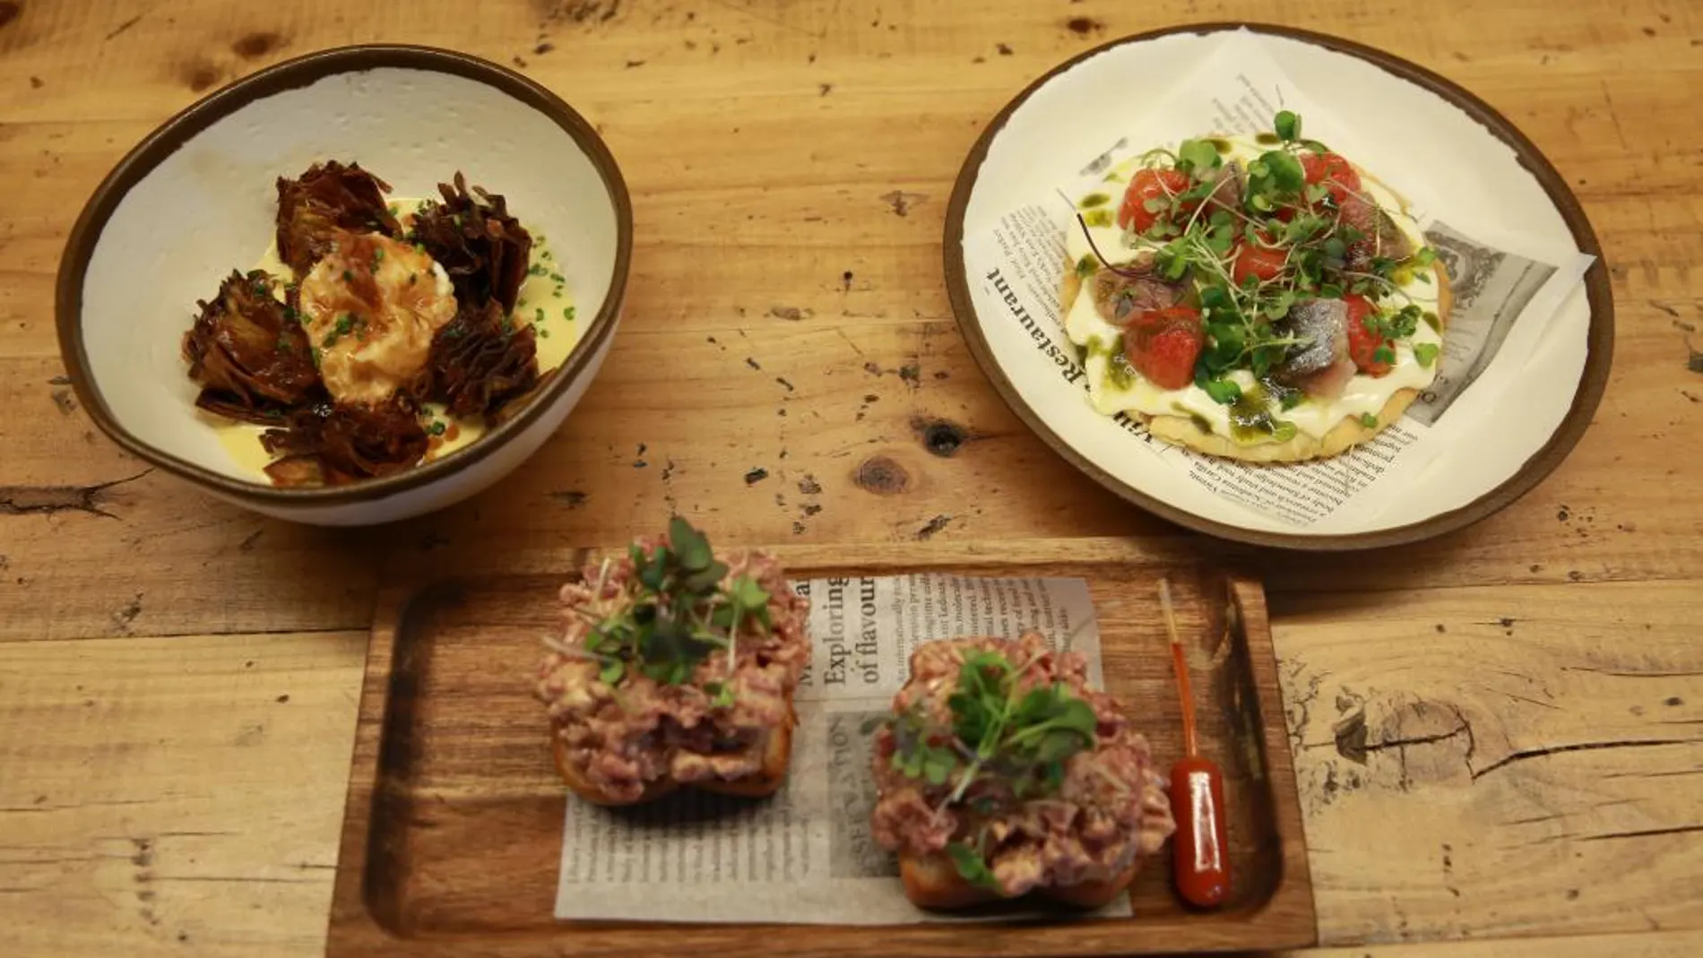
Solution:
M775 793L792 696L811 660L809 602L761 551L717 556L685 519L562 587L535 693L579 796L635 805L681 786Z

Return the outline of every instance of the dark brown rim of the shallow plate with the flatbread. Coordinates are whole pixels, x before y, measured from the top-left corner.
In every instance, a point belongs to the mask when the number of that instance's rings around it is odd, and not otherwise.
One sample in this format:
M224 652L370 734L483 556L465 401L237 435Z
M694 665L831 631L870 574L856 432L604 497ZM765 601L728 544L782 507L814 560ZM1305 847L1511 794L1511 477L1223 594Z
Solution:
M1567 417L1555 429L1555 432L1550 434L1550 441L1545 442L1541 449L1533 453L1533 456L1526 459L1526 463L1514 475L1459 509L1439 512L1429 519L1410 522L1407 526L1396 526L1393 529L1333 536L1265 533L1260 529L1243 529L1196 516L1194 512L1177 509L1175 505L1119 482L1090 463L1087 456L1076 453L1076 449L1073 449L1068 442L1059 439L1058 434L1054 434L1046 422L1035 415L1029 403L1024 402L1024 396L1015 386L1012 386L1012 381L1005 376L1005 371L1000 369L1000 364L995 362L993 352L988 349L988 340L983 337L981 327L976 322L976 310L969 296L969 281L964 272L964 211L969 208L969 194L976 185L976 179L981 175L981 165L988 158L988 148L993 145L995 136L998 136L998 133L1005 128L1012 114L1024 105L1024 102L1027 102L1035 90L1059 73L1115 46L1172 34L1206 36L1236 29L1296 39L1333 53L1356 56L1385 70L1386 73L1393 73L1402 80L1424 87L1425 90L1431 90L1449 104L1459 107L1466 116L1488 129L1492 136L1502 140L1514 150L1519 165L1536 177L1545 192L1550 194L1550 201L1555 202L1562 220L1565 220L1568 230L1572 230L1574 240L1579 243L1579 250L1596 257L1596 262L1592 262L1591 269L1585 271L1584 279L1585 298L1591 305L1591 330L1585 342L1585 366L1580 371L1579 391L1574 393L1574 403L1567 410ZM942 257L945 260L947 298L952 301L952 313L957 316L959 328L964 332L964 340L969 344L971 356L976 357L976 364L981 366L983 373L993 383L995 391L998 391L1000 398L1005 400L1005 405L1008 405L1012 412L1017 413L1017 417L1042 439L1042 442L1051 446L1054 453L1087 473L1092 480L1134 505L1197 533L1207 533L1223 539L1259 546L1310 551L1347 551L1398 546L1453 533L1500 510L1548 476L1555 466L1567 458L1574 444L1579 442L1579 437L1584 436L1592 413L1596 413L1597 403L1603 400L1603 390L1608 386L1609 362L1614 352L1614 301L1608 279L1608 264L1603 260L1603 248L1597 245L1596 231L1591 228L1591 221L1585 218L1584 208L1579 206L1579 199L1570 189L1567 189L1567 180L1555 172L1555 167L1550 165L1550 162L1541 151L1538 151L1538 146L1528 140L1526 134L1516 129L1507 117L1495 111L1495 107L1463 87L1458 87L1453 80L1448 80L1439 73L1432 73L1424 66L1408 63L1407 60L1361 43L1276 24L1209 22L1146 31L1095 46L1093 49L1083 51L1041 75L1034 83L1025 87L1022 94L1012 99L1012 102L1006 104L998 116L993 117L981 138L976 140L976 146L971 148L969 157L964 158L964 167L959 170L957 184L952 187L952 201L947 204L947 230L945 243L942 245Z

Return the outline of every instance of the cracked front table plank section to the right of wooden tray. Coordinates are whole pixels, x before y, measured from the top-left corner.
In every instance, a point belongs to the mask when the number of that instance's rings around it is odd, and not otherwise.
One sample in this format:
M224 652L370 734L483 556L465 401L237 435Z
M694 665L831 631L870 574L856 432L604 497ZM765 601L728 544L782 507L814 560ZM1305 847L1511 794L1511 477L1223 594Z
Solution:
M1282 601L1323 938L1696 927L1698 589Z

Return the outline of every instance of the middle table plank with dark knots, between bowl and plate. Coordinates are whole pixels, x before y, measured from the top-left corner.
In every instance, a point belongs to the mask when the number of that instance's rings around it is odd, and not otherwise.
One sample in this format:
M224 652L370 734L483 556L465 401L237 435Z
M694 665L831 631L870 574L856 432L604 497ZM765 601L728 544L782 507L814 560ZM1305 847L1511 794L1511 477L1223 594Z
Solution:
M777 323L746 335L737 327L720 335L622 332L581 410L526 470L463 505L390 526L376 541L261 519L169 476L100 490L92 505L107 516L78 509L80 490L145 468L94 434L80 412L60 412L54 395L66 393L53 383L56 364L0 359L0 369L10 368L0 396L29 410L32 424L0 463L0 553L9 556L0 606L10 613L0 616L0 640L124 628L359 628L385 563L429 565L453 555L458 565L501 567L564 541L618 543L669 509L743 541L1182 536L1068 470L1022 431L979 379L955 330ZM1681 465L1671 437L1703 422L1691 412L1703 405L1683 398L1677 376L1698 378L1698 396L1703 378L1677 364L1672 385L1645 374L1671 354L1666 340L1623 334L1614 385L1597 415L1604 427L1589 431L1558 475L1509 510L1408 550L1308 563L1270 553L1257 560L1260 570L1274 590L1691 575L1703 567L1703 509L1676 497ZM651 369L673 362L707 371L685 408L645 386ZM923 386L897 374L913 362ZM947 378L935 379L938 373ZM1614 429L1652 408L1672 425ZM9 514L7 502L14 510L39 502L43 510ZM1192 548L1253 555L1209 541ZM107 573L138 551L150 562L128 563L123 579ZM143 613L124 623L138 594Z

